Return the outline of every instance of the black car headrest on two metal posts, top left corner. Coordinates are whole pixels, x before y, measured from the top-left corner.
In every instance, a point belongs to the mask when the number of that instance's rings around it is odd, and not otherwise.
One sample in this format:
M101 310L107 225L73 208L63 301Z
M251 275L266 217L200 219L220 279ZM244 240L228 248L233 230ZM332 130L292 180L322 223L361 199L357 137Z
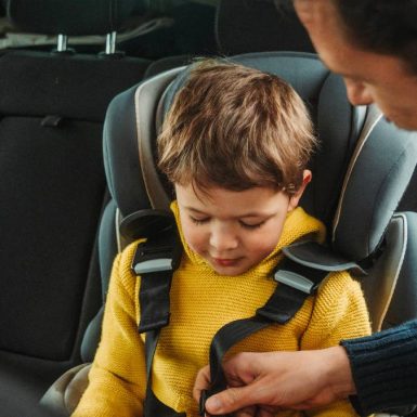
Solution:
M9 19L26 32L105 35L117 31L135 0L3 0Z

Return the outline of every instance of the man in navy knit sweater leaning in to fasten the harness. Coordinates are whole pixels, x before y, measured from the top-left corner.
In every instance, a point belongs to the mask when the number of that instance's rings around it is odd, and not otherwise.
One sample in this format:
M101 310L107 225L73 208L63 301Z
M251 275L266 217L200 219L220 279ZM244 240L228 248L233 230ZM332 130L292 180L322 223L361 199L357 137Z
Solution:
M417 130L417 1L294 3L323 62L343 76L352 104L375 102L389 120ZM224 364L233 388L210 398L206 409L268 417L276 409L307 409L353 394L361 415L417 404L417 322L342 346L237 355ZM204 368L196 399L208 382Z

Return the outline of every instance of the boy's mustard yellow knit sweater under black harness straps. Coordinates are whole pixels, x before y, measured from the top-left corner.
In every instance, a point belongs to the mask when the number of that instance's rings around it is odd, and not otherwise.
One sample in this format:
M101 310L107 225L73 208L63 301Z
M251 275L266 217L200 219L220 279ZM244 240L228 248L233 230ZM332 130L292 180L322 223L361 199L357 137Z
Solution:
M178 206L172 210L179 223ZM180 233L181 225L179 224ZM192 388L197 370L208 363L211 339L224 324L252 316L276 285L271 271L281 259L281 248L324 226L301 208L285 222L275 250L240 276L217 274L185 242L181 265L171 287L171 318L160 333L153 365L154 393L177 412L198 416ZM140 278L131 271L138 243L114 263L102 340L90 372L89 388L73 417L141 417L146 387L144 336L138 333ZM235 346L238 351L307 350L336 346L340 339L368 335L368 315L360 285L348 273L334 273L315 297L309 297L286 325L272 325ZM310 412L281 412L279 417L356 416L349 402ZM158 416L149 416L158 417Z

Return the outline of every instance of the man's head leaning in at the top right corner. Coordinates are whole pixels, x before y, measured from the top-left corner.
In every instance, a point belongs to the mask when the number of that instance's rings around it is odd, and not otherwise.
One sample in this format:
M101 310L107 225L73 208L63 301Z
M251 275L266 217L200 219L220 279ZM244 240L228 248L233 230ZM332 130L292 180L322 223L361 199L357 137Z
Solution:
M417 129L415 0L295 0L295 8L353 104L375 102L398 126Z

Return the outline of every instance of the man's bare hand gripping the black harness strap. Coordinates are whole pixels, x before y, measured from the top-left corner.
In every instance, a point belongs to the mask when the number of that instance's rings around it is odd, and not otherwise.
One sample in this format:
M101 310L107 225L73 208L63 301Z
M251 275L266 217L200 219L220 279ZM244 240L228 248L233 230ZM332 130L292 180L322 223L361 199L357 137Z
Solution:
M229 389L206 402L209 414L272 417L281 409L309 409L355 392L342 347L317 351L239 353L223 364ZM193 395L210 386L206 366L197 375Z

